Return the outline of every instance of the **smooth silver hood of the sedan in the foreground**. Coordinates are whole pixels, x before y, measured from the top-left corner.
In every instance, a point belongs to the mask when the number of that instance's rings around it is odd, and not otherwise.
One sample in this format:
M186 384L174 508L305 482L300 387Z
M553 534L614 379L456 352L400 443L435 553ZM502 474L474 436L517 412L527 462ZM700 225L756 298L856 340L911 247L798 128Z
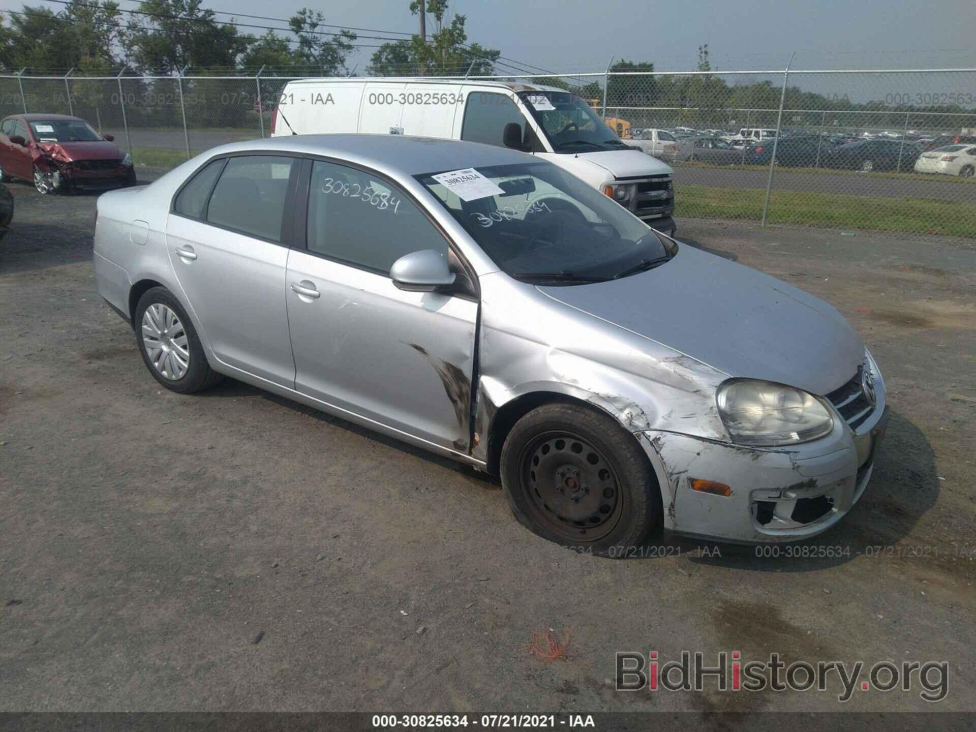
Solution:
M687 244L641 274L538 289L733 377L823 395L864 362L860 336L832 305Z

